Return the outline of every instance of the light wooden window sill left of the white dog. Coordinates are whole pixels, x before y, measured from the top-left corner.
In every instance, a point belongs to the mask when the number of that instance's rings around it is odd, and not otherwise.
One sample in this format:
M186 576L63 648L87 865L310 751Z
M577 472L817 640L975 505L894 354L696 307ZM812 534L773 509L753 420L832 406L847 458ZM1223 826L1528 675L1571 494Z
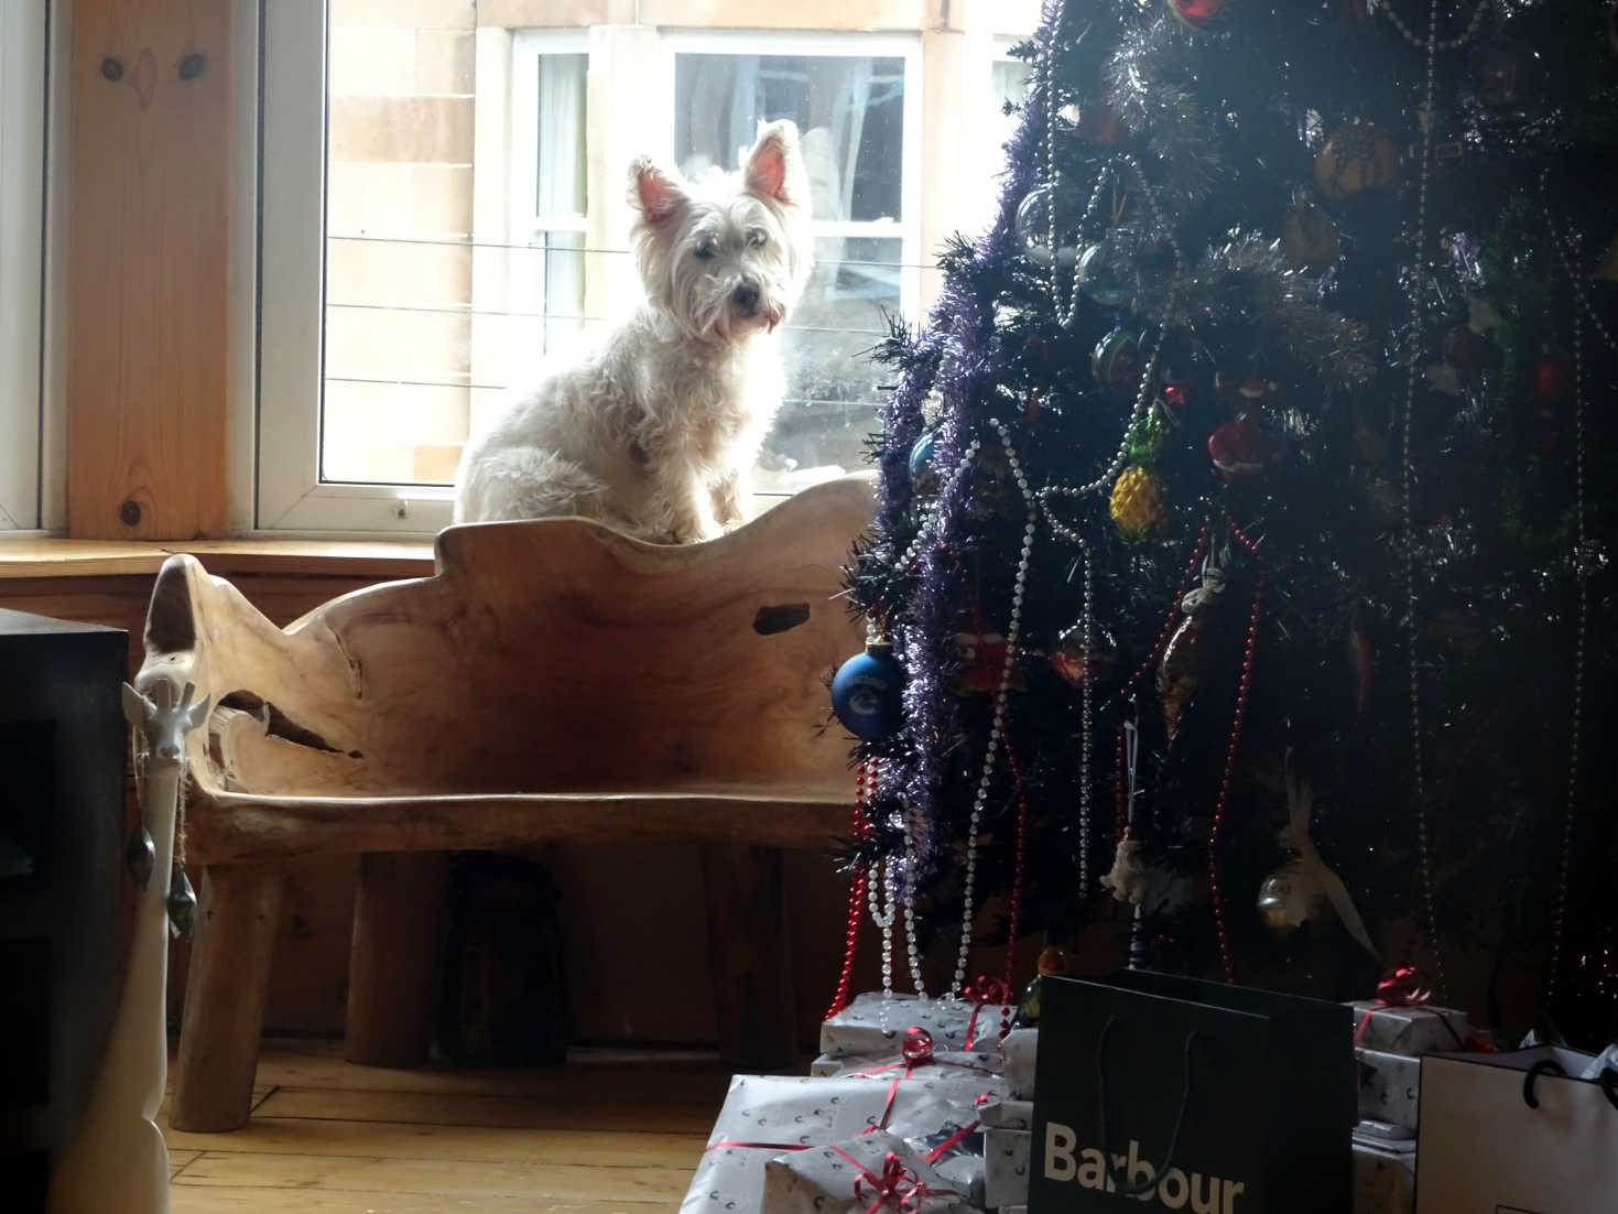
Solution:
M176 552L209 573L280 573L330 578L424 578L434 571L432 542L341 539L197 539L123 542L97 539L3 539L0 579L95 578L157 573Z

